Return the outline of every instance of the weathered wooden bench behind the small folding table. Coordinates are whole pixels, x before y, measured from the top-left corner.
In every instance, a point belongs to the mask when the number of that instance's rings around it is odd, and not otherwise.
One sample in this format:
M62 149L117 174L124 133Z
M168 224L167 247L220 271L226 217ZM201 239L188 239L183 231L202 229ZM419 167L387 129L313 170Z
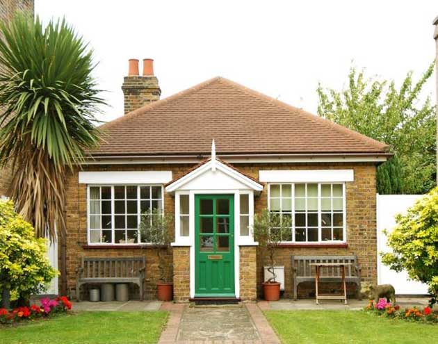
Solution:
M357 256L291 256L293 300L297 300L298 284L315 281L314 263L348 263L346 265L346 282L357 284L356 297L361 300L360 279L361 268ZM326 268L321 270L320 281L334 282L341 279L341 268Z

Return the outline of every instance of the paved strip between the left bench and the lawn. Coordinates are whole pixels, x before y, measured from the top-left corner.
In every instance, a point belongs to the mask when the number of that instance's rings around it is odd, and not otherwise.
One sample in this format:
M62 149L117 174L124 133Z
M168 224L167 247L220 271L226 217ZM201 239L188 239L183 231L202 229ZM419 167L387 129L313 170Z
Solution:
M162 302L156 300L127 302L72 302L74 311L158 311Z

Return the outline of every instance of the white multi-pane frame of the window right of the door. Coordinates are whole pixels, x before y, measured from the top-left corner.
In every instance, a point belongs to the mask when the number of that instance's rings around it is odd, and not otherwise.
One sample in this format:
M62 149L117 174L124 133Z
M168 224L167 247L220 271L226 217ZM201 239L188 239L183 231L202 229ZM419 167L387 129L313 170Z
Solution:
M273 185L280 186L280 194L279 194L279 204L280 204L280 212L279 214L282 214L282 185L291 185L291 197L292 197L292 240L291 241L282 241L284 244L297 244L297 245L324 245L324 244L345 244L347 243L347 212L346 212L346 183L345 182L314 182L314 181L300 181L300 182L274 182L274 183L268 183L268 210L270 211L270 187ZM317 184L318 185L318 241L295 241L295 184ZM342 222L343 222L343 240L321 240L322 237L322 218L321 213L323 211L321 210L321 185L323 184L337 184L342 185ZM306 187L307 190L307 187ZM333 196L330 197L333 202ZM307 214L307 194L305 195L305 202L306 202L306 211ZM330 211L331 213L333 210ZM288 212L289 213L289 212ZM301 228L301 227L300 227ZM306 215L306 229L307 227L307 215ZM306 230L306 239L307 239L307 230Z

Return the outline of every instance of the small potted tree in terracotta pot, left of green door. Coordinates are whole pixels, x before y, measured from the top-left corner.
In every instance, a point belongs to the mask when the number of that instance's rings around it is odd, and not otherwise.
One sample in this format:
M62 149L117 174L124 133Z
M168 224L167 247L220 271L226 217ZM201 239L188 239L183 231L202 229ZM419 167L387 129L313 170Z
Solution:
M152 243L159 261L159 282L156 284L158 299L173 299L172 264L168 260L173 227L173 216L158 209L146 211L140 220L140 235L146 243Z

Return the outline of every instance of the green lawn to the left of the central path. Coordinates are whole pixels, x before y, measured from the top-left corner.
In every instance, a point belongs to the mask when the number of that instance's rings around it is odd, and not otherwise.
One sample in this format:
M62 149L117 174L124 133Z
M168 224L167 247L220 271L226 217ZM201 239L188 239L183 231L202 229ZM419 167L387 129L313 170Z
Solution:
M82 312L0 329L1 344L157 343L165 311Z

